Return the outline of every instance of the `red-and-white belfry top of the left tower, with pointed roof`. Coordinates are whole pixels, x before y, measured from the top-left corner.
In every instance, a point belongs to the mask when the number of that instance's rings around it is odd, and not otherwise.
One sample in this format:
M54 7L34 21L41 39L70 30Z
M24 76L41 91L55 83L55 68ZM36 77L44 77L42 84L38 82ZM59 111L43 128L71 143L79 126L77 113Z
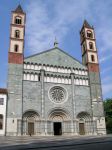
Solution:
M9 63L22 64L24 56L25 13L20 5L12 11Z

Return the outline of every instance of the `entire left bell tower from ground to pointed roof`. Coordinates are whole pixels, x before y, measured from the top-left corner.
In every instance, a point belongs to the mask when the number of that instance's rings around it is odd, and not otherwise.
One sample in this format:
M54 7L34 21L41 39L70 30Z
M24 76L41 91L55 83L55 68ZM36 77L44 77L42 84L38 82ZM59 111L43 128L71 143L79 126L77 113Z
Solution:
M25 13L12 11L8 52L8 105L6 135L21 135Z

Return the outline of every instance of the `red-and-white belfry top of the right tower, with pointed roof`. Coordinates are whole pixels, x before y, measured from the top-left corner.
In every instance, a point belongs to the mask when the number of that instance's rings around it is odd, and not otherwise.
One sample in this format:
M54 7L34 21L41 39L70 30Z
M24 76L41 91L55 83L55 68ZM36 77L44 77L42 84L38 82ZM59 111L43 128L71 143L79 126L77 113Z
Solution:
M94 28L85 20L80 32L82 63L88 67L89 71L99 72L96 39Z

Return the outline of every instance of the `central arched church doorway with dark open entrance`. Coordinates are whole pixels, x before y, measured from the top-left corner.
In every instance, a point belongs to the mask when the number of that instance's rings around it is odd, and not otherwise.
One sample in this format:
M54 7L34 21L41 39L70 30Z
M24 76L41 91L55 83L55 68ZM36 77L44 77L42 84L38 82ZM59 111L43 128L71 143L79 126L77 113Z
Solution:
M53 110L49 115L52 122L53 135L62 135L65 132L66 122L70 122L69 115L61 109Z

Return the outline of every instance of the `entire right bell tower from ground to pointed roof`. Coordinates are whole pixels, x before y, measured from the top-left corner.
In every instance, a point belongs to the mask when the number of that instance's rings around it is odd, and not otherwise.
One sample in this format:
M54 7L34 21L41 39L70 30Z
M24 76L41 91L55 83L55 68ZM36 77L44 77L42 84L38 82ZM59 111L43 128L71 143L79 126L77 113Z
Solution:
M101 79L94 28L85 20L80 31L82 63L88 68L91 108L97 134L106 134Z

